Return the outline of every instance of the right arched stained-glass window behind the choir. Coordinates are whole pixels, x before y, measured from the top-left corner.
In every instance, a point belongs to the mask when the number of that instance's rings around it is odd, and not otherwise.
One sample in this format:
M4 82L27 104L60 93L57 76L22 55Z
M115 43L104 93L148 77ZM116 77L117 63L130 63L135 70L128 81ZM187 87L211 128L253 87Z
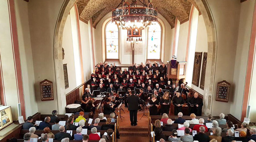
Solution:
M161 54L162 29L157 22L148 28L148 59L160 59Z

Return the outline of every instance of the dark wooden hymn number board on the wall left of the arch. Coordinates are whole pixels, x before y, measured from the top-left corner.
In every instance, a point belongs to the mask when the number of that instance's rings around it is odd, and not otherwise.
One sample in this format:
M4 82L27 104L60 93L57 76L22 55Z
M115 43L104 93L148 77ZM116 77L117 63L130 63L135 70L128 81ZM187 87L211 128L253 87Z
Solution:
M41 101L54 100L52 81L44 79L44 81L40 82L40 90L41 90Z

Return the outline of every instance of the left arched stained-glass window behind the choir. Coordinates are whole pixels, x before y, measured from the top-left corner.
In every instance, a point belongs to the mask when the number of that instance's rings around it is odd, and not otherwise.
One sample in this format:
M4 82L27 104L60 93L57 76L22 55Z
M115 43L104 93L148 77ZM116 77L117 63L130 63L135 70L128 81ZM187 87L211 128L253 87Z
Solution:
M108 22L105 32L106 59L119 59L119 30L117 25Z

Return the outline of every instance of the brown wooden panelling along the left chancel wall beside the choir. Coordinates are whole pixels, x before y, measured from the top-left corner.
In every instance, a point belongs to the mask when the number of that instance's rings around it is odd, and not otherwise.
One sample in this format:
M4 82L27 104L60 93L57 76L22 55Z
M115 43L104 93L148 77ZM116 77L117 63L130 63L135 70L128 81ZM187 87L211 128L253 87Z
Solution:
M81 84L80 86L76 87L72 91L66 94L66 105L73 104L76 100L80 100L80 90L82 89L82 94L85 91L85 88L87 87L87 84L91 83L91 79L88 79L86 82Z

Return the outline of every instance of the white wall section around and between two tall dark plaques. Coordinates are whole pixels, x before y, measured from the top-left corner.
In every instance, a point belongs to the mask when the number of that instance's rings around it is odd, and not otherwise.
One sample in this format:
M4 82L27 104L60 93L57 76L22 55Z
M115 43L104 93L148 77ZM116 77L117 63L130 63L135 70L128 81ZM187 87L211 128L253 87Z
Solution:
M197 36L196 36L196 52L203 52L202 61L201 61L199 86L200 86L200 82L201 82L203 56L204 56L204 52L207 52L207 49L208 49L208 41L207 41L206 27L204 24L203 16L199 15L198 16L198 26L197 26ZM204 90L202 90L201 88L199 88L193 84L191 84L191 88L193 88L200 94L204 94Z

